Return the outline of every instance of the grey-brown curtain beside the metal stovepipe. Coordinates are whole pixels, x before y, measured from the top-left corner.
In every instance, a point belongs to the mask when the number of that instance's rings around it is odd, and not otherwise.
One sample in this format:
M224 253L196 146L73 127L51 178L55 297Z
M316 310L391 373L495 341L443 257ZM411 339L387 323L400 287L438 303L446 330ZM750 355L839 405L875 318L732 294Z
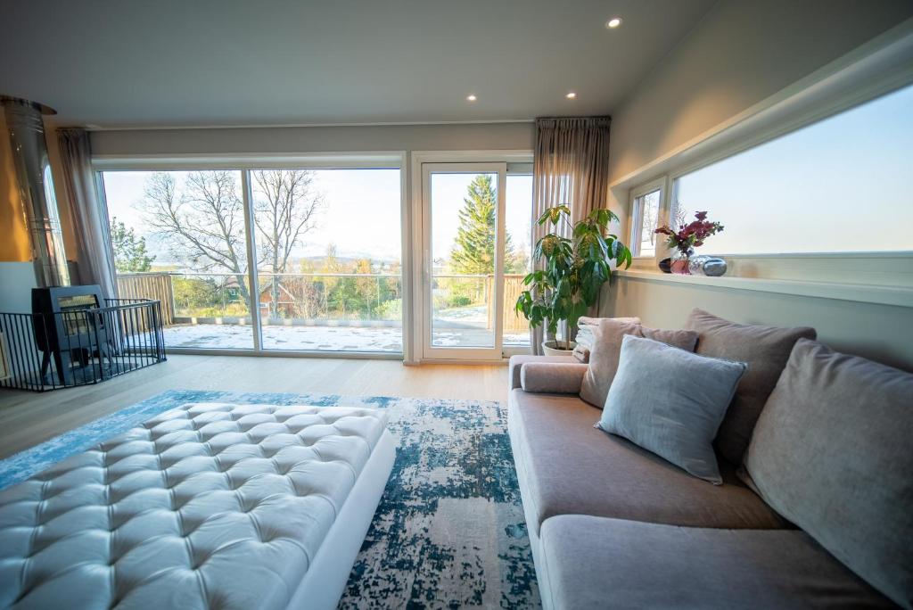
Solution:
M99 201L92 172L89 132L58 129L58 147L69 216L77 242L79 281L98 284L108 299L117 297L111 261L108 215Z

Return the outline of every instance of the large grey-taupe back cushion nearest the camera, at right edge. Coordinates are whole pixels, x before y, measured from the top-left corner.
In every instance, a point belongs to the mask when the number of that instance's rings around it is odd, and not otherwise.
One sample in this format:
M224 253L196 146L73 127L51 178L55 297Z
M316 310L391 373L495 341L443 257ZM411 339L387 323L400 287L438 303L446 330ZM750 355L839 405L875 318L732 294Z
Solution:
M745 458L751 485L913 606L913 374L800 340Z

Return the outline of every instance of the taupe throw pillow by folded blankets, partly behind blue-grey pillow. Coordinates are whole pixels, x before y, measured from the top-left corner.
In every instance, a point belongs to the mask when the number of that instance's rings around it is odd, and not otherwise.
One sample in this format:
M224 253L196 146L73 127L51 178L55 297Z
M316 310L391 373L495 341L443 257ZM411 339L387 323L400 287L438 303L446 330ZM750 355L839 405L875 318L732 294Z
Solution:
M605 398L615 373L625 335L645 337L667 343L674 347L694 352L698 333L694 331L662 331L641 326L624 318L603 318L593 331L593 347L590 349L590 370L583 377L580 395L583 400L597 408L603 408Z

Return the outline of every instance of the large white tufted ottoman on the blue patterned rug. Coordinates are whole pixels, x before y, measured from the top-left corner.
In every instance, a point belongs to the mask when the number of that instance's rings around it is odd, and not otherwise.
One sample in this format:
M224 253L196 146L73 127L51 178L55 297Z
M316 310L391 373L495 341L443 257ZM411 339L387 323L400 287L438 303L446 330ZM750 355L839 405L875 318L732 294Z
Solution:
M383 411L184 405L0 491L0 607L331 608L394 461Z

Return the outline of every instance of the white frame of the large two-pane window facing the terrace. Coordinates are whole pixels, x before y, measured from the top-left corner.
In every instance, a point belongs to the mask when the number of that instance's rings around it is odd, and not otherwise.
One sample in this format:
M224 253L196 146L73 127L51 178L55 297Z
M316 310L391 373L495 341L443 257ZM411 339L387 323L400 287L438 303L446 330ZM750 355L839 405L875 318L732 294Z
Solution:
M248 180L251 171L262 169L397 169L400 172L400 240L401 240L401 286L403 289L403 351L402 352L331 352L316 350L274 350L263 349L261 345L262 330L260 324L260 308L257 302L257 291L251 290L250 301L247 303L251 316L251 330L253 332L252 349L230 348L186 348L166 347L168 353L190 353L205 355L245 355L245 356L292 356L316 358L363 358L376 360L404 360L408 362L413 342L413 329L411 321L412 289L409 279L409 265L411 248L409 246L408 218L409 211L406 205L407 192L407 165L404 151L393 152L367 152L367 153L279 153L279 154L180 154L180 155L99 155L92 157L92 172L95 175L95 186L101 205L107 208L104 191L104 172L186 172L207 170L236 170L241 174L241 197L245 212L245 237L247 242L247 256L253 259L253 248L256 247L256 229L253 223L253 196ZM110 221L108 210L104 209L106 221ZM110 240L109 240L110 248ZM113 252L108 253L113 260ZM257 286L257 268L248 266L248 281L251 286Z

